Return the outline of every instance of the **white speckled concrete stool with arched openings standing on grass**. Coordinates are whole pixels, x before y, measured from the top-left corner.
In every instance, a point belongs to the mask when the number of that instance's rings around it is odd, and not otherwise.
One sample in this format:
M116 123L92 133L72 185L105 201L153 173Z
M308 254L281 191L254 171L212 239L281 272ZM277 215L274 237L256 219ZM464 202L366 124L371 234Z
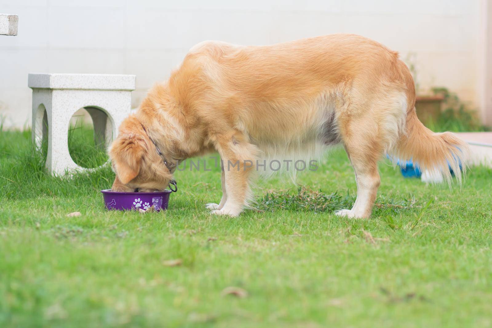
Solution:
M68 151L72 115L85 108L92 117L96 143L108 146L130 114L135 75L31 73L32 139L48 142L46 167L51 174L84 170Z

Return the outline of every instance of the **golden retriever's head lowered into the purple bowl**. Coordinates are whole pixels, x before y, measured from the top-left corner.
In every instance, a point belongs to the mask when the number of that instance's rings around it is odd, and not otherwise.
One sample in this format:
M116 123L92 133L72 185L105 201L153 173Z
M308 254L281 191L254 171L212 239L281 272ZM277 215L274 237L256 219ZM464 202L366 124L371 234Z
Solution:
M172 172L155 151L140 121L133 115L121 124L118 138L109 148L109 156L116 173L111 188L113 191L164 190L172 179Z

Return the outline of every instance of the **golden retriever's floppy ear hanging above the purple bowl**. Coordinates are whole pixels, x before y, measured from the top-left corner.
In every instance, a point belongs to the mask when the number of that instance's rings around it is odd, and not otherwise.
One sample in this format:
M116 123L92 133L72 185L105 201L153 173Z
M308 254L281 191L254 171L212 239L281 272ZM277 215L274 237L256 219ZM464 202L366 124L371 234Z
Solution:
M118 179L127 184L138 175L145 153L145 142L135 135L120 135L109 149Z

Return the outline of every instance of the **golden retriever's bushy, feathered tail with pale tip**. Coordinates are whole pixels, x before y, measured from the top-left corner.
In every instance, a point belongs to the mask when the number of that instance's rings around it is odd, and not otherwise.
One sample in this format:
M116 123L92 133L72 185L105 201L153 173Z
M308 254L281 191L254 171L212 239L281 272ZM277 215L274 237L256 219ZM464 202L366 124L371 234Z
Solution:
M461 184L469 154L467 144L452 132L429 130L417 118L413 104L407 110L405 129L395 148L392 155L400 161L412 160L422 172L442 176L448 183L453 172Z

